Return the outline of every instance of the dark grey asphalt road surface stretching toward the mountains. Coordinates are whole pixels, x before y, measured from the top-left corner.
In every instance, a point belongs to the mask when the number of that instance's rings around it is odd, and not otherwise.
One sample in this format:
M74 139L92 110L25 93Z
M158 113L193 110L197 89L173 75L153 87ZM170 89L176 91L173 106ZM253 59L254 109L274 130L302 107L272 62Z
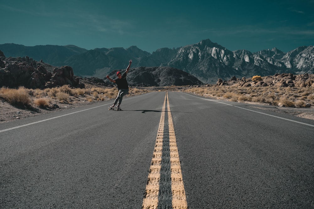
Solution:
M142 208L163 112L188 208L314 208L314 121L182 92L162 111L165 96L0 124L0 208ZM167 184L157 198L171 208Z

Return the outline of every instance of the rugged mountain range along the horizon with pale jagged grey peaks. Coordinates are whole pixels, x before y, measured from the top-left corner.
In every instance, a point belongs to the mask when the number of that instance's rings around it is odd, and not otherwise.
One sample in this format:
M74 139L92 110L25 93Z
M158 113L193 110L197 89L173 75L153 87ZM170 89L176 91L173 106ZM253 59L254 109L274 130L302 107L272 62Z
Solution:
M95 48L86 50L74 45L0 44L6 57L29 56L54 66L68 65L76 76L104 78L112 71L125 69L128 60L132 68L172 67L195 76L203 83L216 83L221 78L270 76L276 73L313 74L314 47L300 46L287 53L277 49L258 52L230 51L205 39L180 48L160 48L153 53L136 46L124 48Z

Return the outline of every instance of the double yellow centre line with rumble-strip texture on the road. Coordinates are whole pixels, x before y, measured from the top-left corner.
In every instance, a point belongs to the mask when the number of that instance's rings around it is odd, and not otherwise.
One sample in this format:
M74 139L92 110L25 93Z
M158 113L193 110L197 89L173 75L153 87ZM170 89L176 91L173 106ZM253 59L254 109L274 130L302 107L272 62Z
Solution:
M188 208L168 92L162 107L145 194L144 209Z

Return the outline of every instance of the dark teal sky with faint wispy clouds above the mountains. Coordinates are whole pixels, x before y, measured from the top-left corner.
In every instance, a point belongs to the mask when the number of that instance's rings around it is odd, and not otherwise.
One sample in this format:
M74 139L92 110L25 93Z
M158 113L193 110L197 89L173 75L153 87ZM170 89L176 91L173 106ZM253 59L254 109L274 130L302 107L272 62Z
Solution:
M314 44L313 11L314 0L0 0L0 44L152 53L210 39L232 51L288 52Z

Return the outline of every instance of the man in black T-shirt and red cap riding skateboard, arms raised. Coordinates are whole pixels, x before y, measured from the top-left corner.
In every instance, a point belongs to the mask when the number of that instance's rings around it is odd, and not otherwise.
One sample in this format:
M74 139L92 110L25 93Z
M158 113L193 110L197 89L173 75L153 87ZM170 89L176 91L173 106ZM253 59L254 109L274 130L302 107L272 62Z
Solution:
M118 86L119 90L118 96L116 97L115 102L111 107L115 107L116 104L118 103L118 106L116 106L116 108L120 109L122 97L129 93L129 85L127 84L127 73L130 70L131 64L132 60L129 61L129 66L127 66L127 70L123 73L123 75L121 75L120 71L117 72L118 79L116 80L112 80L108 75L106 76L106 78L108 78L109 81L114 82Z

